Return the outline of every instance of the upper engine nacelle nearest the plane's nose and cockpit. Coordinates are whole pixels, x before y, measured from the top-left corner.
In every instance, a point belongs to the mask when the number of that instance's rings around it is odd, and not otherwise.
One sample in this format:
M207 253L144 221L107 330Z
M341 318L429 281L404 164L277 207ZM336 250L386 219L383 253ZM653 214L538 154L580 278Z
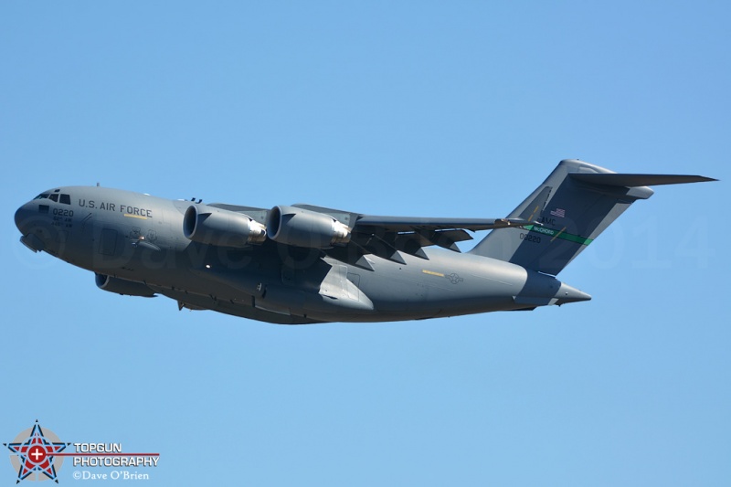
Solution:
M243 213L192 205L185 210L183 234L185 238L207 245L241 248L263 242L267 229Z

